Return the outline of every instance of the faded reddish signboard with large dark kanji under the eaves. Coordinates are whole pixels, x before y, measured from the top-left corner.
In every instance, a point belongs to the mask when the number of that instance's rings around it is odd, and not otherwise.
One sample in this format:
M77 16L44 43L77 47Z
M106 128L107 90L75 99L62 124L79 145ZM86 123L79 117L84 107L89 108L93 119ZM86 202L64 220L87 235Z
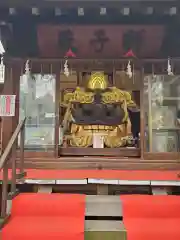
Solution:
M132 49L137 57L155 57L165 29L161 25L39 25L41 57L120 58Z

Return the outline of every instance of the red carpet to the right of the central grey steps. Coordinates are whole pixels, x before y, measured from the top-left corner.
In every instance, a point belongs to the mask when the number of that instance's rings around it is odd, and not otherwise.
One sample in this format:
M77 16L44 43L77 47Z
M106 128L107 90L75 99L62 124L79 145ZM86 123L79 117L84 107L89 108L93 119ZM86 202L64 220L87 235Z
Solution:
M180 240L180 197L121 196L127 240Z

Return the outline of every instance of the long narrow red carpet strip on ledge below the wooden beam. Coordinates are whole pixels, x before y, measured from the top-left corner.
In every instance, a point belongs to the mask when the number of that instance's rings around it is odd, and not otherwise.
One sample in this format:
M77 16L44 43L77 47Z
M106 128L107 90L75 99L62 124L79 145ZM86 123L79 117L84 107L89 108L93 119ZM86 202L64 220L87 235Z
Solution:
M164 180L178 181L180 171L132 171L132 170L46 170L27 169L27 179L85 179L103 178L119 180ZM9 171L9 177L11 172ZM2 172L0 172L2 179Z

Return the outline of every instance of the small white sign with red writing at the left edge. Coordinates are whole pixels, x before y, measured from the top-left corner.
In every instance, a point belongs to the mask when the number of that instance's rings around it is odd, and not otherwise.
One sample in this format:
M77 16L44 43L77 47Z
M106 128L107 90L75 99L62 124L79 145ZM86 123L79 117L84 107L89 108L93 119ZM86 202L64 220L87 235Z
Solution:
M0 95L0 116L12 117L15 115L16 95Z

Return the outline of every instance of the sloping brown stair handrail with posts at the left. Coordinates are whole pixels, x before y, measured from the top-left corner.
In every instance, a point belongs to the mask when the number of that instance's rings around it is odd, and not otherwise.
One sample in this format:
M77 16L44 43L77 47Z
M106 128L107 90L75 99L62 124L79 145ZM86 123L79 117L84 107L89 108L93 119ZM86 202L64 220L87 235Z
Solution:
M2 178L2 203L1 203L1 218L7 217L7 201L12 199L16 194L16 182L25 176L24 172L24 137L25 137L25 121L22 120L16 127L7 147L0 157L0 171L3 173ZM20 162L17 166L17 143L20 134ZM11 171L11 175L9 174ZM19 172L17 173L17 170ZM9 179L10 177L10 179ZM10 192L8 192L8 184L11 184Z

